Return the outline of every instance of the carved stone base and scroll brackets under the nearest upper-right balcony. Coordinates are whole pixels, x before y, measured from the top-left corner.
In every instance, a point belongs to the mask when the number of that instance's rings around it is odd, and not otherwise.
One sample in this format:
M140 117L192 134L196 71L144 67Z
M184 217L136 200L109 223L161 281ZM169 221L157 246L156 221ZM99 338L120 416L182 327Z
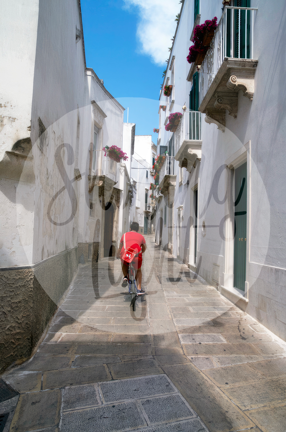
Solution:
M199 111L206 114L206 123L214 123L224 132L225 110L237 117L239 90L252 101L257 63L253 59L225 57L199 106Z

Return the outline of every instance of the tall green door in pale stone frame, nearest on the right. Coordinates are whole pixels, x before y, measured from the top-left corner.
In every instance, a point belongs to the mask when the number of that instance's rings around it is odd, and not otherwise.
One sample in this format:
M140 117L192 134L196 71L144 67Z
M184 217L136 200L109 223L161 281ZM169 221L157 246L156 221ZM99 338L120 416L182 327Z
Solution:
M235 253L233 286L244 291L246 277L247 162L235 170Z

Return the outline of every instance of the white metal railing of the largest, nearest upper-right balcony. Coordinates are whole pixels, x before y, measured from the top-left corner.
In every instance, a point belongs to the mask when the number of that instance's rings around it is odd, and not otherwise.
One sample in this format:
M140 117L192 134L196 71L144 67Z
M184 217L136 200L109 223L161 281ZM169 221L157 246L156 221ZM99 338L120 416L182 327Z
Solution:
M257 8L225 6L215 35L199 69L199 105L225 57L253 59Z

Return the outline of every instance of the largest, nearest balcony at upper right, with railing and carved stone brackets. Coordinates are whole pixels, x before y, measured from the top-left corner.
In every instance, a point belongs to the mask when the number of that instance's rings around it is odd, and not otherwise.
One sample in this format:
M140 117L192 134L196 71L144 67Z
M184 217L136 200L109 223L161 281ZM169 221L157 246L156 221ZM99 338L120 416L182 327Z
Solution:
M252 100L254 74L253 31L256 8L225 6L215 36L199 67L199 111L205 121L225 130L225 110L237 117L238 91Z

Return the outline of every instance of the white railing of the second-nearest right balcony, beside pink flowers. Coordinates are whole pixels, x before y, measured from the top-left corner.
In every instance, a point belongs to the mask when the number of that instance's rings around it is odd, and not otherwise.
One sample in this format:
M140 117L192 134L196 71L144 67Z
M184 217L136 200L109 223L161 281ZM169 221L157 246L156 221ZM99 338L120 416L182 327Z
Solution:
M174 133L175 155L184 140L201 139L201 115L199 111L186 111L183 113L180 124Z

